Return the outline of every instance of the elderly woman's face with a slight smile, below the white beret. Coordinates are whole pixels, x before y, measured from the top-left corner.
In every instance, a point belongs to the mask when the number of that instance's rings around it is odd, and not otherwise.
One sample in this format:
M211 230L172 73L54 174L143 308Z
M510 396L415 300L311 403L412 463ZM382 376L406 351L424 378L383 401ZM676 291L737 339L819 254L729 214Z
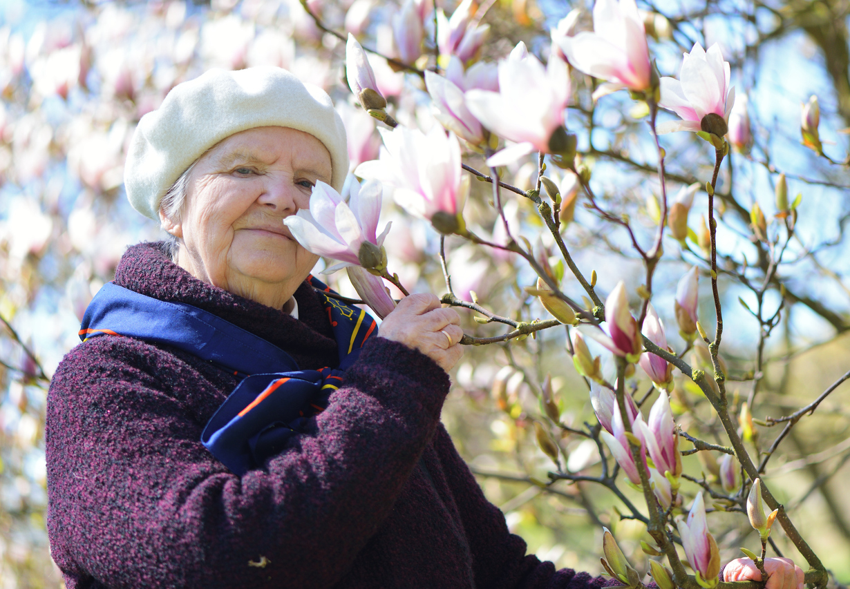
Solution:
M282 308L319 259L283 224L309 207L317 180L331 182L331 155L309 133L258 127L224 139L190 173L180 220L163 219L183 239L178 264L195 278Z

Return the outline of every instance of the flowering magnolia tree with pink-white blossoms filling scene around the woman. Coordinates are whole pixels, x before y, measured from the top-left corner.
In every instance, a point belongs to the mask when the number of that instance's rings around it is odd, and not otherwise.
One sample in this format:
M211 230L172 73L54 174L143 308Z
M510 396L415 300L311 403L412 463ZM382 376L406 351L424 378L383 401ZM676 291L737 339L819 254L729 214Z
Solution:
M469 348L444 421L539 555L632 587L728 587L720 567L741 552L762 574L764 558L786 555L813 586L847 582L850 503L829 484L850 457L850 416L833 400L850 372L842 356L807 350L840 346L850 328L838 133L850 86L831 54L814 74L784 49L828 48L830 26L846 46L847 15L779 8L8 8L9 586L58 578L43 530L42 422L74 315L124 246L157 236L122 194L134 125L178 82L251 65L326 88L346 123L342 194L319 183L309 210L285 220L324 258L315 271L380 317L409 291L462 313ZM828 124L813 91L828 97ZM806 376L792 371L797 357L814 367ZM782 476L801 469L810 486ZM540 534L577 540L547 548Z

